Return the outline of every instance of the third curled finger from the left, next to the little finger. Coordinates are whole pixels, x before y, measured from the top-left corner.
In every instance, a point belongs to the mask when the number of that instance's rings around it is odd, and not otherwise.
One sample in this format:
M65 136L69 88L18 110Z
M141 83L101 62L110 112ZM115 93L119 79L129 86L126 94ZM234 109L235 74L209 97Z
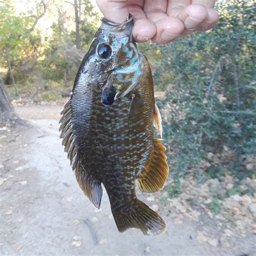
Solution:
M199 26L207 19L208 12L207 9L200 4L188 5L183 11L180 12L178 18L183 21L185 30L183 35L188 35L194 30L199 28Z

